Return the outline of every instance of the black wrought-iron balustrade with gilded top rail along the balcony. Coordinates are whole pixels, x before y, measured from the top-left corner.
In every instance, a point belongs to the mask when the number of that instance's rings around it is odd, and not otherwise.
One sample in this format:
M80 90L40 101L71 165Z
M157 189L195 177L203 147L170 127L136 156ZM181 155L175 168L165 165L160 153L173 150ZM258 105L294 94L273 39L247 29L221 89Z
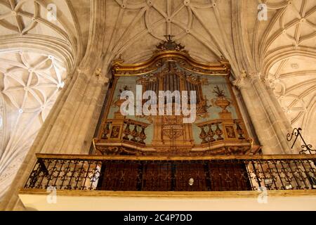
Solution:
M243 155L128 160L37 155L25 189L93 191L256 191L316 188L316 155Z

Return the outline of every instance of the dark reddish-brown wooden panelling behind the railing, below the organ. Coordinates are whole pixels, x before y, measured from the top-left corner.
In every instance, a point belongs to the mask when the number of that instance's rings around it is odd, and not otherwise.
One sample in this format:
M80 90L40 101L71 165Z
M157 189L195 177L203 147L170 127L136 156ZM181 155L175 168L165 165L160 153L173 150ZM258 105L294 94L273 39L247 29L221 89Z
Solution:
M107 191L248 191L243 162L110 161L103 163L100 190Z

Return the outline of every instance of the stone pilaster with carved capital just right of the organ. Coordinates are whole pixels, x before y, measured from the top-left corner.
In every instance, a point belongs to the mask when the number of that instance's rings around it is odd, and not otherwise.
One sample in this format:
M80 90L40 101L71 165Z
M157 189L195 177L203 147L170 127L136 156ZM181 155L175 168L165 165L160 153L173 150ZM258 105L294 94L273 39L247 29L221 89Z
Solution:
M244 103L254 124L254 129L264 154L284 154L292 153L289 143L287 143L288 129L284 125L284 120L279 114L271 100L271 96L260 73L251 75L242 72L240 78L233 82L237 86L244 98Z

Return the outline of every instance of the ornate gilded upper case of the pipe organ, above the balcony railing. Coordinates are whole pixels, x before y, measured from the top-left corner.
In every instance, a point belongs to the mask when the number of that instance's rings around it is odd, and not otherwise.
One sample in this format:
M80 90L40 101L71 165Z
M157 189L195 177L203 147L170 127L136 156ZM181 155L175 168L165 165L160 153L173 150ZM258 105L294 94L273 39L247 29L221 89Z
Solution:
M184 46L167 40L143 63L124 64L124 60L114 60L112 76L98 136L93 139L98 153L193 157L243 155L251 151L252 140L232 92L227 60L199 63L189 56ZM195 120L184 123L186 115L175 113L175 105L183 103L183 99L177 102L175 95L171 96L171 115L158 113L169 103L166 96L163 105L157 101L154 115L122 115L120 108L126 99L121 98L121 93L136 94L137 85L141 85L143 94L145 91L157 95L159 91L187 91L188 108L192 107L190 94L195 91Z

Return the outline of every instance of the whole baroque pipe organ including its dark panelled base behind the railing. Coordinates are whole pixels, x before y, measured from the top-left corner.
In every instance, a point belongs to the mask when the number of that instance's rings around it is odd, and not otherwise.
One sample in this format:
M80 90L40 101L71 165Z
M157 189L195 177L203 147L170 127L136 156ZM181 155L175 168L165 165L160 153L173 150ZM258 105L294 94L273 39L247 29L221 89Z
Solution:
M143 63L124 64L124 60L114 60L105 110L100 117L98 136L93 139L96 153L108 157L100 165L97 188L107 191L251 190L244 162L223 164L204 160L208 155L249 154L253 147L229 77L227 60L199 63L183 46L170 39L159 44L152 58ZM151 95L142 100L146 91ZM169 96L165 95L168 91ZM127 92L131 96L125 96ZM180 93L187 95L184 98ZM143 113L146 100L150 102L148 110L153 113ZM121 113L121 106L126 102L132 103L127 111L137 112L141 108L141 112ZM190 110L195 108L190 111L194 120L184 122L187 114L176 113L179 103ZM171 108L169 113L165 112L167 105Z

